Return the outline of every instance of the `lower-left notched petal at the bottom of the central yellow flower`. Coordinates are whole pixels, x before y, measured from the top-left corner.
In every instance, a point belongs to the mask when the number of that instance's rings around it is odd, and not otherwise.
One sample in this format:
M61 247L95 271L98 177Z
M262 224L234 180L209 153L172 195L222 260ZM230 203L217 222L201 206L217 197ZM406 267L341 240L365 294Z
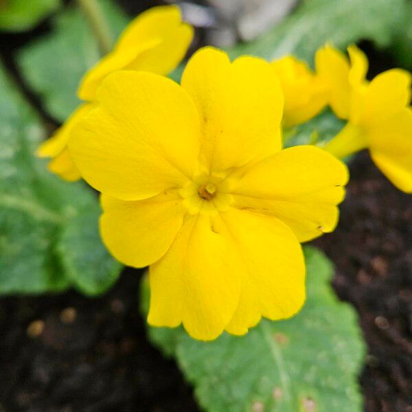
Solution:
M148 322L183 323L195 339L216 339L238 306L241 258L220 217L185 222L168 253L150 266Z

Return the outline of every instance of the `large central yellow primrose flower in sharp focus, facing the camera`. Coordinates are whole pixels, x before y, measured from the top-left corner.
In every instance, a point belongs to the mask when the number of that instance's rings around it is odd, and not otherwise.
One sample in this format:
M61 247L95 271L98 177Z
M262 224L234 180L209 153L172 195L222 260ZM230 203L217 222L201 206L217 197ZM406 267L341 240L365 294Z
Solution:
M282 150L282 112L271 65L211 47L181 85L133 71L104 80L69 150L102 192L106 247L150 265L151 325L210 340L301 308L299 241L334 229L347 168L314 146Z

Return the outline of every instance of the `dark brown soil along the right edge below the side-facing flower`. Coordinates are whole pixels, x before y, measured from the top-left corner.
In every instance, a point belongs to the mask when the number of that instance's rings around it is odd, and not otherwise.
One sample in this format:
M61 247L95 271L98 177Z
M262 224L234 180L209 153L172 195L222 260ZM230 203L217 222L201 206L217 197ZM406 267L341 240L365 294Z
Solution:
M358 310L368 345L367 411L412 411L412 198L363 153L351 164L339 226L317 240L337 295Z

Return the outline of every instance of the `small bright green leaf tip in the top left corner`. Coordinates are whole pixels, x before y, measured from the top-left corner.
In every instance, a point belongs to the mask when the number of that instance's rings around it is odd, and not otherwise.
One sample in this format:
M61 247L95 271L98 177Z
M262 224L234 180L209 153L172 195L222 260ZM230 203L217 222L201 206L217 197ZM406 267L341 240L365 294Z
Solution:
M0 30L30 30L60 6L60 0L1 0Z

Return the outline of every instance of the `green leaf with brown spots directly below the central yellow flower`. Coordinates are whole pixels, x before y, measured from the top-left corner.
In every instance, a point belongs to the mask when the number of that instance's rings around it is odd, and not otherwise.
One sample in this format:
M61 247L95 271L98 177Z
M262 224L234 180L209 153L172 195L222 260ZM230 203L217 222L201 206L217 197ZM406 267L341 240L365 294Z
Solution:
M334 295L328 258L313 247L305 255L308 299L292 319L264 320L245 336L209 343L181 328L148 328L152 343L176 357L205 410L362 411L357 376L365 345L356 313Z

